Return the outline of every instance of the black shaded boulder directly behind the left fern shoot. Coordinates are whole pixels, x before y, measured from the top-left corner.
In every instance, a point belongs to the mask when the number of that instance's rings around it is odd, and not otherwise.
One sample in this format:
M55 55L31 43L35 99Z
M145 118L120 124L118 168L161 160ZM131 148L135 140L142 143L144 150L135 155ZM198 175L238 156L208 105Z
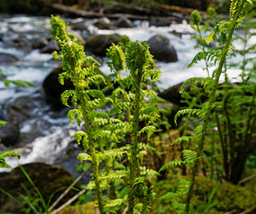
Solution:
M71 80L65 80L65 84L62 85L58 81L59 74L64 72L61 67L55 68L44 79L43 88L47 101L49 101L55 110L60 110L63 106L61 103L61 94L64 90L73 90L73 83Z

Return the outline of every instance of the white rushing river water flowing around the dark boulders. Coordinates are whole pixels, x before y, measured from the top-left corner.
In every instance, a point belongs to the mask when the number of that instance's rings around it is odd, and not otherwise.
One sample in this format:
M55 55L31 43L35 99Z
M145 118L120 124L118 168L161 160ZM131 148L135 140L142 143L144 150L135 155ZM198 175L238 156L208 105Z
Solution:
M74 20L69 20L74 21ZM131 40L148 40L155 34L161 34L169 38L177 50L177 62L159 62L158 67L162 72L159 86L162 90L174 84L179 84L190 77L206 77L207 72L203 70L204 62L187 69L187 65L199 51L194 49L195 41L191 36L195 35L194 30L186 23L172 24L166 27L140 25L137 27L120 28L117 30L98 30L99 34L119 33L127 35ZM53 61L52 55L42 54L39 49L27 49L26 44L14 47L15 39L46 38L49 36L49 18L28 17L16 15L15 17L3 17L0 15L0 53L15 55L19 61L11 64L0 64L0 69L9 79L22 79L34 84L31 88L20 88L11 85L9 88L0 83L0 104L6 108L19 97L30 97L32 110L30 118L20 124L20 142L13 147L21 152L20 164L31 162L44 162L48 164L61 164L67 171L78 165L75 156L78 152L70 154L71 148L78 147L73 142L73 134L77 129L75 124L69 124L67 109L60 112L51 110L44 98L42 83L44 78L58 66ZM175 33L173 33L175 32ZM0 38L1 38L0 37ZM254 40L253 40L254 39ZM255 38L249 43L255 43ZM237 46L241 45L236 43ZM105 59L108 60L108 59ZM102 72L109 74L110 70L103 64ZM238 78L238 70L230 70L230 78ZM8 149L10 147L4 147ZM73 159L67 158L72 156ZM63 160L67 159L67 160ZM7 159L7 163L13 167L18 165L17 159ZM0 169L5 171L5 169Z

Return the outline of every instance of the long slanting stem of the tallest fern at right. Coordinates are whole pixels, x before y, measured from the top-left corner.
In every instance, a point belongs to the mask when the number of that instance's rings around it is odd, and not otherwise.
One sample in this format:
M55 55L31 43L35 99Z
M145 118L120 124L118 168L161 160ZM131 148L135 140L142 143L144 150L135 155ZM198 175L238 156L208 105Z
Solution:
M185 213L186 214L189 213L190 200L191 200L191 197L192 197L192 191L193 191L194 184L195 184L195 176L196 176L196 172L197 172L198 165L199 165L199 159L201 157L201 152L202 152L204 142L205 142L205 138L206 138L206 134L207 134L207 126L208 126L208 122L209 122L209 119L210 119L210 116L211 116L212 104L215 101L215 93L216 93L216 90L217 90L217 87L218 87L219 77L220 77L222 69L224 67L224 61L225 61L226 55L228 54L228 49L230 47L231 38L232 38L233 32L236 28L236 24L237 24L236 21L238 20L240 14L241 14L241 9L243 8L243 4L244 4L244 0L239 1L239 3L237 4L237 5L239 5L239 8L236 11L234 20L232 20L232 22L231 22L229 35L228 35L228 38L225 41L224 50L222 51L222 53L220 55L220 61L219 61L219 64L218 64L218 69L216 71L216 76L213 79L212 90L211 90L210 95L209 95L209 101L208 101L208 104L207 104L206 115L205 115L205 118L204 118L204 123L203 123L202 131L201 131L201 139L200 139L198 149L197 149L197 152L196 152L195 165L194 165L194 168L193 168L191 181L190 181L190 184L189 184L189 192L188 192L188 196L187 196L187 200L186 200L186 207L185 207ZM214 77L213 74L214 73L212 73L212 78Z

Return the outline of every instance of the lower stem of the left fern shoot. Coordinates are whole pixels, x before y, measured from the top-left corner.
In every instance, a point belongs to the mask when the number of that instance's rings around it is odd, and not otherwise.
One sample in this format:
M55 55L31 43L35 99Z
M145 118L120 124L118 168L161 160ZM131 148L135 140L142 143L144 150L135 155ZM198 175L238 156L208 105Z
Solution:
M88 141L89 141L89 147L90 147L90 156L91 156L91 168L93 172L94 182L96 185L96 197L98 200L99 210L101 214L103 213L103 200L102 200L102 191L100 188L100 177L99 177L99 169L98 169L98 163L96 160L96 148L94 145L94 142L92 140L92 134L91 134L91 127L90 127L90 119L89 119L89 107L87 105L86 98L82 95L81 92L78 91L80 101L81 101L81 108L83 112L83 119L84 119L84 127L88 134Z

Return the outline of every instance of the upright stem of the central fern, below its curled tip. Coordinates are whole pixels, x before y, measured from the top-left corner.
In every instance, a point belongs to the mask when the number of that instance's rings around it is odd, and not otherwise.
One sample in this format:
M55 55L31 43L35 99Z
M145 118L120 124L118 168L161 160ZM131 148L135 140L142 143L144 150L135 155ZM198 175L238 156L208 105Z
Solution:
M138 124L139 124L139 107L141 99L141 82L142 82L142 69L138 69L136 86L136 95L134 100L134 117L132 121L132 134L131 134L131 165L130 165L130 182L128 192L128 213L133 213L133 208L135 205L135 195L134 195L134 183L137 174L137 139L138 139Z

